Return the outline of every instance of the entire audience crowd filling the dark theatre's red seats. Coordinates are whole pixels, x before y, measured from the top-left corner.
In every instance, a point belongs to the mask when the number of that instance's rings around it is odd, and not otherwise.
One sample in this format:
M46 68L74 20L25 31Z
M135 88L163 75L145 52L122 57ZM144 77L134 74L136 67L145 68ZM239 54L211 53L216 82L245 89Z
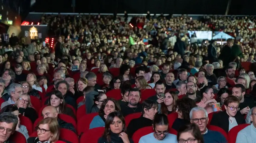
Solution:
M0 142L255 142L253 17L127 18L44 15L55 43L0 38Z

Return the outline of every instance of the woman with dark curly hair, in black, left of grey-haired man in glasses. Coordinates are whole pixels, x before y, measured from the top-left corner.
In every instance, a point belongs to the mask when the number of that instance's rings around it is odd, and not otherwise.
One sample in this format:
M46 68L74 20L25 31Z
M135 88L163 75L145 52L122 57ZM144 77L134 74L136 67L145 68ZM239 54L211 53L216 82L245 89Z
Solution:
M178 113L178 118L172 124L172 128L176 131L182 125L186 125L190 123L189 112L192 108L196 107L196 103L193 99L190 98L182 98L177 100L176 112Z

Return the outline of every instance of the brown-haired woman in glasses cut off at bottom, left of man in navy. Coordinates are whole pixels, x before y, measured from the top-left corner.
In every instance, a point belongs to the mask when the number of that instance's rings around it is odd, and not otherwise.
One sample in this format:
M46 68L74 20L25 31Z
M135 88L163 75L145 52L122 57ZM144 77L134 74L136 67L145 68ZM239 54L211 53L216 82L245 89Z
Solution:
M177 134L179 143L204 143L199 127L192 123L182 126Z

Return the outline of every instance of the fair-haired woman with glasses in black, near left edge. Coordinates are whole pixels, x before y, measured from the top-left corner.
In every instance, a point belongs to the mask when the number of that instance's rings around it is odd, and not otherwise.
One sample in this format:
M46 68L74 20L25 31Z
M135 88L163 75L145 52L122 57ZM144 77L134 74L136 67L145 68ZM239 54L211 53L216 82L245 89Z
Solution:
M28 117L32 123L38 118L38 114L34 108L31 107L30 96L28 94L21 94L17 100L17 107L21 115L24 114L25 117Z

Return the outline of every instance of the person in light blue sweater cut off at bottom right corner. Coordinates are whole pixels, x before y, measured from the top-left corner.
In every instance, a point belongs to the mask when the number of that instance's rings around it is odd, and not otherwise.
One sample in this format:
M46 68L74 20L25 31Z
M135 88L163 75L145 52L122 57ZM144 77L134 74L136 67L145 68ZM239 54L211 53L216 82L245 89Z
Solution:
M248 113L249 114L249 113ZM236 143L253 143L256 140L256 108L253 107L251 110L251 125L245 127L238 132L236 136Z

